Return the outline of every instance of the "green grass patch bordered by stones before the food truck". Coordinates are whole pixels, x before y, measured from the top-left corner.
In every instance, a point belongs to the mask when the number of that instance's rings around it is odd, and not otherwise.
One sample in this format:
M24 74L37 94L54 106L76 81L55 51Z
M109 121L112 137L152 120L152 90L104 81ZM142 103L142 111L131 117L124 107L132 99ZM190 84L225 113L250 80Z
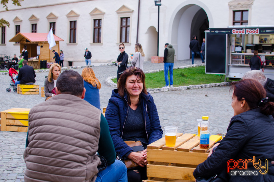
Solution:
M199 85L225 81L225 76L221 78L221 75L206 74L205 69L205 66L198 66L173 70L173 86ZM112 79L112 81L117 83L116 78ZM146 74L146 88L162 88L165 86L165 83L164 71Z

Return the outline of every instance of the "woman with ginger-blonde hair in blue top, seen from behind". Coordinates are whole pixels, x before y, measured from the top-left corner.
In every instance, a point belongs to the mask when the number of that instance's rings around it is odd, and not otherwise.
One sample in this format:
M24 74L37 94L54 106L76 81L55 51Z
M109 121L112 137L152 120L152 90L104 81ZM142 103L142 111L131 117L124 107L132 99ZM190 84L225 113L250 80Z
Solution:
M92 106L100 109L99 89L101 88L101 83L95 77L95 74L90 67L84 68L81 76L84 79L84 88L86 88L84 100L88 101Z

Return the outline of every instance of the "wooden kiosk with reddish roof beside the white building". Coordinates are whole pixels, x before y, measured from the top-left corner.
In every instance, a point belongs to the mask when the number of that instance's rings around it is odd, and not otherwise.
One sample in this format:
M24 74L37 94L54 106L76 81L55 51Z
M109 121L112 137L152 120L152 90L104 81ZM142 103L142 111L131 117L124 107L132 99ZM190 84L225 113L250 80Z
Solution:
M34 69L39 69L40 61L47 60L47 63L52 62L51 58L54 57L52 51L55 50L59 54L59 41L64 41L56 35L53 35L56 46L49 50L47 35L48 33L17 33L9 42L19 42L20 52L22 52L23 48L26 48L29 52L29 66L33 66ZM38 59L36 58L37 56L39 56Z

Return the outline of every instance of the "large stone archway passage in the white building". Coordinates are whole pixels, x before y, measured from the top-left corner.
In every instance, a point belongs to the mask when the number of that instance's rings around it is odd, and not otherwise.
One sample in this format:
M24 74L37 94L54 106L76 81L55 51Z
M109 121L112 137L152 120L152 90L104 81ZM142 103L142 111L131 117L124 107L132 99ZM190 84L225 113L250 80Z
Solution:
M173 45L177 59L185 60L190 58L189 43L192 35L195 34L200 41L204 35L202 32L213 27L213 18L204 3L188 0L174 10L169 27L168 41Z

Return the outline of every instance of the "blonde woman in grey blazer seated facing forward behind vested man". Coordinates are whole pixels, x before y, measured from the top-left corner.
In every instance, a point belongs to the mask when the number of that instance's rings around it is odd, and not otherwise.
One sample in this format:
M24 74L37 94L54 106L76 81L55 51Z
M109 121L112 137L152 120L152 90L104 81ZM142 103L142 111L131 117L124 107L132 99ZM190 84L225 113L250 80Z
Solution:
M52 92L52 90L56 87L57 78L60 75L60 73L61 66L57 63L53 63L49 68L49 76L45 79L44 84L46 100L56 95Z

